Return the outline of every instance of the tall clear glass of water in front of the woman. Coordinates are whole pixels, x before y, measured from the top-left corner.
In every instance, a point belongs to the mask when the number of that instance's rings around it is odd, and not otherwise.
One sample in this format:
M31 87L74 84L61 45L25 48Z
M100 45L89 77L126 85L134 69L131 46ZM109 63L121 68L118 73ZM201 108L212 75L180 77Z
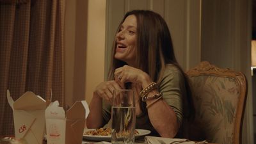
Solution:
M114 90L111 118L111 143L133 144L136 120L133 90Z

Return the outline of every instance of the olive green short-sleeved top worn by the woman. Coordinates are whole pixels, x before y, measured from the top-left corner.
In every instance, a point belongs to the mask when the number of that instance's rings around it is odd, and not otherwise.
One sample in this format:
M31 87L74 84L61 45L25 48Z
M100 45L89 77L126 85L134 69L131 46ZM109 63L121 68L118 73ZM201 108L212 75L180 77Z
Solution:
M164 101L175 111L179 125L183 120L183 97L186 97L186 88L184 76L179 68L175 65L168 64L164 70L163 77L159 84L159 92L163 93ZM111 118L111 105L103 100L102 116L103 124L107 124ZM136 129L148 129L151 131L150 135L159 136L156 132L147 113L141 113L136 116Z

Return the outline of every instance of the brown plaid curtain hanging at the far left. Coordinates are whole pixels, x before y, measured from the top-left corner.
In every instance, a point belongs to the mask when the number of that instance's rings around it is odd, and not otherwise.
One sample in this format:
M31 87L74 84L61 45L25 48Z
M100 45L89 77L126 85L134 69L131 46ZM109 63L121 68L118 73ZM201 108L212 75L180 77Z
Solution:
M27 91L65 103L65 0L0 1L0 136L13 135L6 99Z

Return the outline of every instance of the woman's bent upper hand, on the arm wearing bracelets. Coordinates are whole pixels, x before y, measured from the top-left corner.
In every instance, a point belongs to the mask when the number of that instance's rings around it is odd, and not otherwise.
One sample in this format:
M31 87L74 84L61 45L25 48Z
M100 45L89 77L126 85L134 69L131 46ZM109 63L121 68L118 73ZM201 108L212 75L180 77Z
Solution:
M117 83L142 83L145 77L149 77L146 72L138 68L131 67L129 65L124 65L123 67L116 68L115 70L115 80Z

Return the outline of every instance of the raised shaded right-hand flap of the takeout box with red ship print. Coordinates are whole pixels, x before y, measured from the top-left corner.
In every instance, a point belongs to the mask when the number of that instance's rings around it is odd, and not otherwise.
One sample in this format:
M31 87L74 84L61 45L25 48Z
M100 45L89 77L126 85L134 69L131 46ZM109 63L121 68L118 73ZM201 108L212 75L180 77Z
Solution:
M82 102L76 102L70 109L67 111L67 119L85 119L85 109Z

